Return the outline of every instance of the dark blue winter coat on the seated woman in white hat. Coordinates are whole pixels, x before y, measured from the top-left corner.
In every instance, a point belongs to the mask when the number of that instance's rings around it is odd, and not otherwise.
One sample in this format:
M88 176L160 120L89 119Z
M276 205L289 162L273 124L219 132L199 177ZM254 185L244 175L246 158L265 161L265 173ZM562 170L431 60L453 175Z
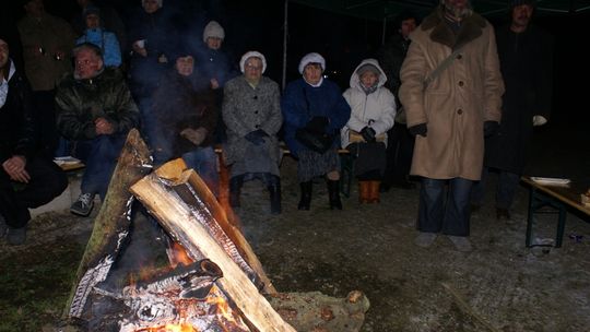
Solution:
M351 117L351 107L342 97L340 87L326 79L318 87L307 84L303 78L291 82L285 90L281 108L285 142L295 156L302 149L307 149L295 139L295 131L305 127L311 118L327 117L330 123L326 132L335 134L333 145L340 146L338 133Z

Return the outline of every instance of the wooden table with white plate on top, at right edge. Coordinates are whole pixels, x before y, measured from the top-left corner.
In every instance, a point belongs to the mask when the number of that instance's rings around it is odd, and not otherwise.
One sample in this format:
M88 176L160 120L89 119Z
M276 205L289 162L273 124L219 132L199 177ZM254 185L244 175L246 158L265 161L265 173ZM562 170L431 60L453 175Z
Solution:
M534 181L530 177L522 177L521 180L527 183L529 190L529 215L527 217L527 248L535 245L531 244L533 220L535 214L557 214L557 230L555 234L555 248L562 247L567 209L575 209L590 215L590 208L581 202L580 194L586 192L579 183L571 182L568 186L551 186ZM551 206L553 210L542 210Z

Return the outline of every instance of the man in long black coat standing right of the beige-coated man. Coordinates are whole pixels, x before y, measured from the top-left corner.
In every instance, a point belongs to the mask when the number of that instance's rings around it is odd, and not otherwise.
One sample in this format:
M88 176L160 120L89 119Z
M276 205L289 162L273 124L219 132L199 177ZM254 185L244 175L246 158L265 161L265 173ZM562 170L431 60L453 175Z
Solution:
M510 24L496 33L506 93L499 130L485 142L484 169L473 190L472 209L477 210L482 204L488 171L496 170L498 220L510 218L533 126L544 124L551 112L553 37L529 24L533 10L534 0L514 0Z

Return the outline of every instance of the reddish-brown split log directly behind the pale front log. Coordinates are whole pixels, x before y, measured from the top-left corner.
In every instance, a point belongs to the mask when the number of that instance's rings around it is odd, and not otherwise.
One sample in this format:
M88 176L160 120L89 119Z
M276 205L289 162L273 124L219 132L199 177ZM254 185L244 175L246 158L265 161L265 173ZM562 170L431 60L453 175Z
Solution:
M232 254L233 250L227 250L226 252L238 263L243 270L247 273L251 273L248 269L253 270L256 274L255 284L261 286L261 290L264 294L275 294L276 289L272 285L270 278L267 276L262 264L258 260L258 257L253 252L250 244L244 237L244 234L240 230L240 225L237 224L237 220L231 213L227 213L226 210L217 202L215 195L209 190L204 181L197 175L194 171L187 171L187 165L182 158L177 158L172 162L168 162L157 168L155 174L162 178L166 179L169 182L169 186L177 192L180 199L194 209L194 212L211 214L221 229L223 229L224 235L220 232L216 232L222 237L227 237L233 244L223 241L223 245L233 245L228 247L234 247L238 253L239 259L246 261L247 265L239 263L236 254ZM205 208L205 209L203 209ZM210 220L209 220L210 221ZM210 230L215 232L217 227L212 227ZM215 238L216 234L212 234ZM228 248L232 249L232 248ZM201 258L193 258L201 259ZM260 283L260 284L259 284Z

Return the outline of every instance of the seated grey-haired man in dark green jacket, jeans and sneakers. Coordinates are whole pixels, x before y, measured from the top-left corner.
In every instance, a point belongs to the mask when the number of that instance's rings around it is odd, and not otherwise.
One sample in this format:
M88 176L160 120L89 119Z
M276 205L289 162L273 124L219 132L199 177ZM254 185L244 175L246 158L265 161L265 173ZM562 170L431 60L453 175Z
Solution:
M94 195L104 200L127 133L138 127L139 111L118 69L105 68L101 49L81 44L73 49L75 71L58 86L57 126L76 141L75 156L86 165L81 194L70 211L86 216Z

